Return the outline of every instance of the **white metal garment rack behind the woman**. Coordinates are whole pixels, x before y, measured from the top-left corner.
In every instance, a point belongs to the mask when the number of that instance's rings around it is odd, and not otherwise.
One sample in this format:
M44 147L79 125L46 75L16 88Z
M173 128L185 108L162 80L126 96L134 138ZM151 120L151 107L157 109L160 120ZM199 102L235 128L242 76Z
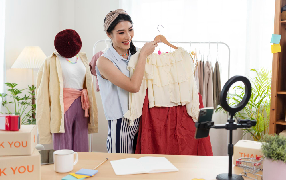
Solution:
M151 42L151 41L135 41L135 40L132 40L133 43L136 43L136 42L143 42L143 43L146 43L146 42ZM98 40L94 46L93 46L93 49L92 49L92 56L94 56L94 54L96 54L96 46L99 42L111 42L110 39L102 39L102 40ZM231 50L229 48L229 45L227 45L226 43L224 42L186 42L186 41L171 41L170 42L171 44L172 43L177 43L177 44L224 44L225 46L227 46L228 50L229 50L229 60L228 60L228 73L227 73L227 79L229 79L229 69L230 69L230 58L231 58ZM92 77L92 80L93 80L93 85L94 85L94 76ZM92 152L92 134L90 134L90 152Z

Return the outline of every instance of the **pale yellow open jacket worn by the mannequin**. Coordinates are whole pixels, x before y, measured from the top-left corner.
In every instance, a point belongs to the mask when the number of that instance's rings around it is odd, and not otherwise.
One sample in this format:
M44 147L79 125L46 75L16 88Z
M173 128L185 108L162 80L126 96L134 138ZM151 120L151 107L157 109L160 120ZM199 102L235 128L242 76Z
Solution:
M86 53L79 52L86 67L84 89L88 91L90 103L88 133L98 132L98 110L92 85L92 78ZM39 131L39 144L52 142L51 133L65 132L63 107L63 77L57 52L53 52L41 65L36 82L36 122Z

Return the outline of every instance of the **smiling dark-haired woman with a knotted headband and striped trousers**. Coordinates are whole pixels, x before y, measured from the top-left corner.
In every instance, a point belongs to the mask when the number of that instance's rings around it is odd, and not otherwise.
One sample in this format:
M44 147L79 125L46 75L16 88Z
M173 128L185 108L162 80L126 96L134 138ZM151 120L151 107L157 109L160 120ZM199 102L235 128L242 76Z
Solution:
M136 53L132 43L133 22L123 9L110 11L104 19L104 31L112 40L110 48L96 62L96 74L104 114L108 120L107 151L110 153L134 153L133 140L138 132L139 120L129 126L123 114L128 111L129 92L139 91L146 58L152 54L158 42L144 44L134 75L130 78L127 64ZM135 140L136 141L136 140Z

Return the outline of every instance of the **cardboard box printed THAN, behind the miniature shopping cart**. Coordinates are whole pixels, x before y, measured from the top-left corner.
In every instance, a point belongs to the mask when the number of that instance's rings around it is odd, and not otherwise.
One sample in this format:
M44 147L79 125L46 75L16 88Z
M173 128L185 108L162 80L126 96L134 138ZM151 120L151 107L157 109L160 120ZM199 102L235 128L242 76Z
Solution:
M257 141L239 140L233 147L233 164L235 165L236 160L241 157L263 156L261 145L262 143Z

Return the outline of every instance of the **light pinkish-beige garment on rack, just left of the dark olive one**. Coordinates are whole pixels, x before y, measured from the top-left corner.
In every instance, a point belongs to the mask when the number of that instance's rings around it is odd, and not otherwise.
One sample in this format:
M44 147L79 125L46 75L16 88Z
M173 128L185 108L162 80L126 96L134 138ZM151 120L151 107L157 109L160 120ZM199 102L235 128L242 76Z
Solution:
M214 107L213 83L212 83L212 63L206 61L204 66L204 87L202 92L204 107Z

